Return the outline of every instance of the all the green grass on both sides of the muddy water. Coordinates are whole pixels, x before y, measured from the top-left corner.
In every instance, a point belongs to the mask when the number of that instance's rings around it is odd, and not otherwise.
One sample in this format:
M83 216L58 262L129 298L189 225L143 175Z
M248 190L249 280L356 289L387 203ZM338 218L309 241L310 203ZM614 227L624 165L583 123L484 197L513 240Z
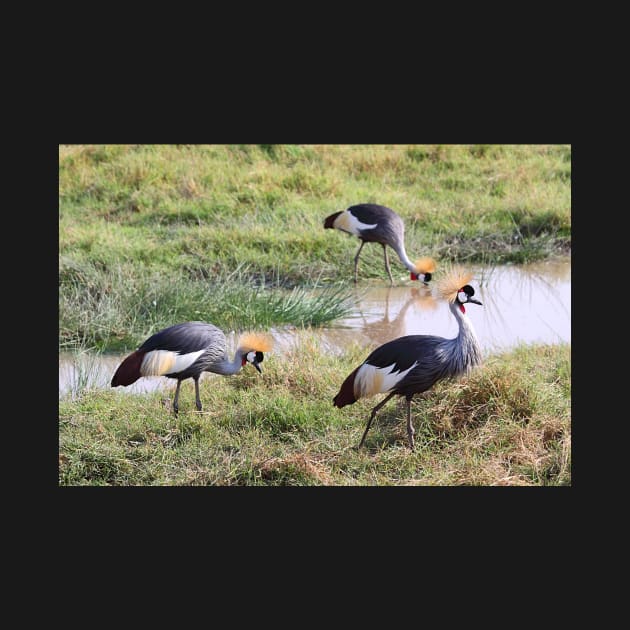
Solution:
M407 253L521 263L571 251L570 145L60 145L59 348L121 351L192 319L299 328L352 308L359 241L324 218L379 203ZM408 275L396 256L392 272ZM439 278L440 267L435 274ZM367 245L360 278L388 282ZM571 485L571 347L521 346L412 410L332 398L369 349L316 331L254 370L59 401L59 485Z

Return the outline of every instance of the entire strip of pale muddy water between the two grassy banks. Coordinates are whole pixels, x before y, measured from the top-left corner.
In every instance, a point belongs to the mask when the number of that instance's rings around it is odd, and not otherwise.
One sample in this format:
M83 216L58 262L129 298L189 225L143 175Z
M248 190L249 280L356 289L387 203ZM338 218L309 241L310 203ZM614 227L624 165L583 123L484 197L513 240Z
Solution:
M470 317L484 353L508 350L521 343L562 343L571 341L571 261L531 265L471 267L475 297L483 306L470 304ZM359 283L352 316L337 320L328 328L308 333L299 330L271 330L276 345L274 355L300 344L301 336L317 335L330 352L341 353L360 343L368 350L376 345L410 334L454 337L457 324L448 306L436 300L430 288L406 282L388 287L383 283ZM228 334L228 347L235 339ZM231 355L230 355L231 356ZM59 396L71 392L87 379L91 387L109 387L122 355L59 355ZM76 366L79 365L77 370ZM264 369L264 365L263 365ZM204 374L204 378L216 375ZM163 377L141 378L117 391L147 392L171 389L175 381Z

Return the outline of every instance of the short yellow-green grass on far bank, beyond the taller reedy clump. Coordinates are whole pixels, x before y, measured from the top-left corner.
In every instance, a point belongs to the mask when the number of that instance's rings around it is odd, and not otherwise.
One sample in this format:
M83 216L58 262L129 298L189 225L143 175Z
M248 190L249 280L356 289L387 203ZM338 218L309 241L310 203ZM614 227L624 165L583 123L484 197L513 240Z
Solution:
M570 244L571 148L59 148L60 253L104 266L334 276L358 241L323 219L361 202L403 216L411 256L461 259L460 241L477 239L477 262L523 262Z

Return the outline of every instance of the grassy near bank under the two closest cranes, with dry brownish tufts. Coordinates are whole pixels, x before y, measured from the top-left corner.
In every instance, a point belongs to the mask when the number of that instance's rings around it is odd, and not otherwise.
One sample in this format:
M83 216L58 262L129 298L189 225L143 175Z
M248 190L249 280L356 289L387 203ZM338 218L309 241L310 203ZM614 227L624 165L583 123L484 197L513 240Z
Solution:
M309 361L303 361L308 356ZM356 449L382 397L336 409L332 398L365 358L342 358L316 335L253 370L171 392L86 391L59 403L59 484L69 485L570 485L571 348L522 346L439 384L412 411L390 401Z

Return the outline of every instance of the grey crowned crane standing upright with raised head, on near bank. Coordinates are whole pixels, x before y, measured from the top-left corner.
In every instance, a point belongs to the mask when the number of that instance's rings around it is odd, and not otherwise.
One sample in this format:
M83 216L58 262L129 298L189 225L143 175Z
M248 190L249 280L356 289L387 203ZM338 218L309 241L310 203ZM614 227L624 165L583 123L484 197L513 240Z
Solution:
M405 335L376 348L342 383L334 397L335 407L345 407L360 398L387 394L372 409L359 443L363 446L376 412L393 396L404 396L407 401L407 436L414 448L411 422L411 399L425 392L442 379L466 374L481 363L481 348L472 323L466 315L466 304L479 304L468 284L472 274L454 269L438 286L440 297L448 300L451 313L457 320L459 332L453 339L435 335Z

